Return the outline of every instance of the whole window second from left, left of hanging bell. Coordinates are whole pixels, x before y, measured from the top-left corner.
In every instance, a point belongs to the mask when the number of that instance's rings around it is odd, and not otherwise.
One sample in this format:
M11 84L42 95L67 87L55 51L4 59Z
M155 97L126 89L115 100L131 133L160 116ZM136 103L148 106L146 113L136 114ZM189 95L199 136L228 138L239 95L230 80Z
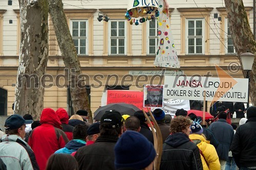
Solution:
M110 21L110 54L122 54L125 55L126 51L126 39L125 21L116 20Z

